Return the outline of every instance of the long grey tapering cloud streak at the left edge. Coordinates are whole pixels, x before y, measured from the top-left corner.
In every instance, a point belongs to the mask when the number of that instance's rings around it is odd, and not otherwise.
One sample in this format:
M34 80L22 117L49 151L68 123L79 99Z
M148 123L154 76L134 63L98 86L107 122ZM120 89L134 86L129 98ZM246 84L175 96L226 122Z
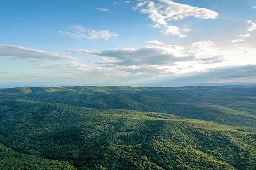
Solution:
M49 59L49 60L72 60L76 59L58 52L29 49L23 46L0 44L0 57L22 58L22 59Z

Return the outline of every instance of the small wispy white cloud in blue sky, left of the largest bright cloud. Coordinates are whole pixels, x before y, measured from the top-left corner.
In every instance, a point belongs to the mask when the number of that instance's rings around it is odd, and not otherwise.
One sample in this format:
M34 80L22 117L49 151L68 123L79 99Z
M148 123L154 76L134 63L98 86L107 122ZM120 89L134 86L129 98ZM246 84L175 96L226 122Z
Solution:
M69 31L58 31L62 35L69 36L75 39L90 39L90 40L110 40L112 38L117 38L117 33L111 33L109 30L100 30L96 31L94 29L85 29L83 26L80 25L71 25L68 27Z

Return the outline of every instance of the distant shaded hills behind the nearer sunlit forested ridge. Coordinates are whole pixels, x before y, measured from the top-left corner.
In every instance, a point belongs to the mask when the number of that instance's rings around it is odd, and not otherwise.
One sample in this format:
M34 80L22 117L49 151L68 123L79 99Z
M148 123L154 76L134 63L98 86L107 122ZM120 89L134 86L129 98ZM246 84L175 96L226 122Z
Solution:
M182 87L193 88L196 87ZM227 87L198 87L198 89L216 88L233 91ZM197 89L197 88L196 88ZM198 91L179 88L145 88L145 87L19 87L2 89L0 92L13 93L28 97L38 102L54 102L73 106L106 109L127 109L146 112L170 113L189 119L216 121L229 126L243 126L253 131L256 128L256 98L253 97L219 97L200 94ZM247 88L241 88L245 91ZM248 88L251 91L252 88ZM191 89L190 89L191 90ZM215 90L216 91L216 90ZM240 90L242 91L242 90ZM246 93L247 94L247 93ZM256 93L252 93L254 95ZM246 111L225 112L202 108L198 105L213 104Z

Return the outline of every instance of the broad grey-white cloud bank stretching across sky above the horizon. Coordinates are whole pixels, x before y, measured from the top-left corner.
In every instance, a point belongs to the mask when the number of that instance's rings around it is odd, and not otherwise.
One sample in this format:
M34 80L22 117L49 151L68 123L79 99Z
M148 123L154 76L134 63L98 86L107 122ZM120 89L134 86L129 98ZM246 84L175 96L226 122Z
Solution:
M45 79L89 81L95 84L106 82L112 85L119 85L124 81L131 84L152 82L150 80L164 84L161 82L163 79L175 79L180 84L189 80L190 82L256 82L256 76L249 72L256 68L256 61L252 62L256 50L247 48L246 53L243 51L240 53L242 47L238 46L237 49L229 51L230 48L221 49L211 40L194 42L190 46L170 45L157 40L148 41L146 44L148 45L138 48L98 51L70 49L67 50L69 54L1 44L0 57L52 60L52 62L33 62L32 66L39 71L36 75L30 73L29 76L39 82ZM236 54L236 58L233 53ZM78 58L70 56L73 54L83 57L77 60ZM248 60L245 60L244 55L247 55ZM86 62L88 60L91 62ZM42 69L54 71L55 74L45 75ZM56 77L57 75L59 77ZM12 75L4 73L0 77L2 79L16 77L21 81L24 76L19 73Z

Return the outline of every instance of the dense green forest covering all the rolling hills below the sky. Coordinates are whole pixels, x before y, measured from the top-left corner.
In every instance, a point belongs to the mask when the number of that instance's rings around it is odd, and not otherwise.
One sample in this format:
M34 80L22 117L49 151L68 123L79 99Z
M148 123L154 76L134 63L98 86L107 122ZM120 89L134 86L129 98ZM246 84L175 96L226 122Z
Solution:
M253 88L193 88L0 89L0 169L256 170Z

